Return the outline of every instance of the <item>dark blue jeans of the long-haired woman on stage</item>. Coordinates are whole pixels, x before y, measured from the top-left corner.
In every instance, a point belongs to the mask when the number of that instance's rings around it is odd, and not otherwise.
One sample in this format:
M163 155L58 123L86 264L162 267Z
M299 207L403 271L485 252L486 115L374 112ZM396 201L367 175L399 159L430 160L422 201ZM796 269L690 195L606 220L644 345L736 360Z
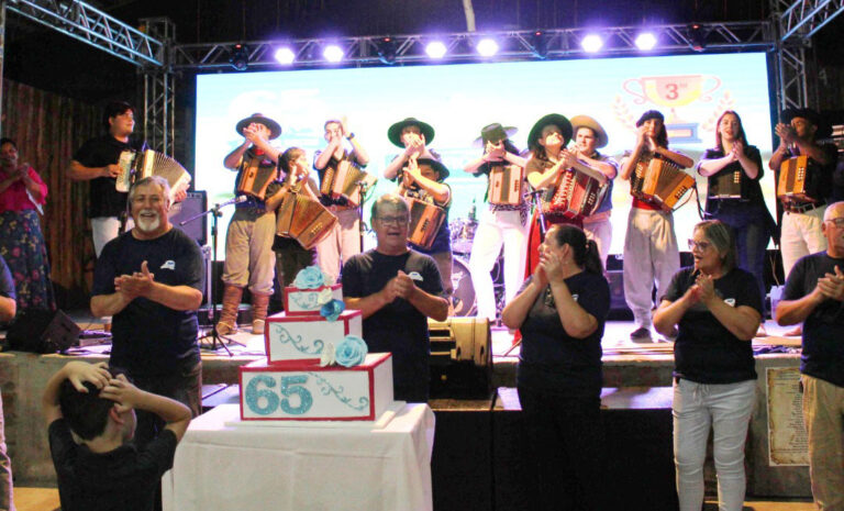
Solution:
M733 227L736 265L753 274L765 297L765 254L770 240L768 212L762 205L722 201L711 211L711 218Z

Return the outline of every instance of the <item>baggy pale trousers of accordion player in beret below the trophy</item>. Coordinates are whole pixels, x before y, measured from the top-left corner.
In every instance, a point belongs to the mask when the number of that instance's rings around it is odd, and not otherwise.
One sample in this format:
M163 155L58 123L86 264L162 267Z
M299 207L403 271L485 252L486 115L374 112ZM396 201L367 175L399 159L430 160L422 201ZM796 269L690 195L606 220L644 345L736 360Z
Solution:
M631 208L624 237L624 300L638 326L651 327L654 280L658 302L679 269L674 215Z

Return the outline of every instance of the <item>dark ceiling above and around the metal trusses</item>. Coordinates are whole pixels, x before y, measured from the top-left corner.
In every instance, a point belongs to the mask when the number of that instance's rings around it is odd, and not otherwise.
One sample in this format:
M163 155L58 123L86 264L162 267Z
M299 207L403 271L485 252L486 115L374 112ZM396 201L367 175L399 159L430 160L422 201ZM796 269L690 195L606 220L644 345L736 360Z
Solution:
M177 43L465 32L462 0L115 0L89 2L136 25L167 16ZM477 30L745 21L767 16L768 0L473 0ZM600 8L596 8L600 5ZM818 59L844 65L844 16L817 36ZM99 103L137 98L136 69L104 52L8 15L4 76Z

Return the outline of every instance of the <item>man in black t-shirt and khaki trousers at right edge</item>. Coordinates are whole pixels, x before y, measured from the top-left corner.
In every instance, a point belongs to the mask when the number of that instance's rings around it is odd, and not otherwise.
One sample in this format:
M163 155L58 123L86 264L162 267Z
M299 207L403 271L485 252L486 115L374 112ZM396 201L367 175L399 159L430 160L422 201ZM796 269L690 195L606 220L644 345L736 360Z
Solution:
M844 202L826 208L821 231L826 251L795 264L776 319L803 322L800 384L812 495L829 511L844 509Z

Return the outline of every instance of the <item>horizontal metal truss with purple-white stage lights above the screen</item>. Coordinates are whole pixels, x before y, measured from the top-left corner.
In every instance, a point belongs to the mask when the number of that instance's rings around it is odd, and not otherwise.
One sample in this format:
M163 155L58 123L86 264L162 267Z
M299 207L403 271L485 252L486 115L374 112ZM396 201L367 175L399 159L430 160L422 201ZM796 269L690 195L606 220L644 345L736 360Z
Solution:
M747 49L774 49L776 33L769 22L726 22L648 26L656 36L656 46L649 54L686 52L723 52ZM289 47L296 55L295 67L329 66L322 56L322 48L335 44L343 49L341 65L381 65L429 62L425 45L441 41L447 48L438 62L482 62L475 45L484 37L495 38L500 47L496 60L575 58L586 56L642 55L635 45L642 26L621 26L598 30L553 29L542 31L508 31L487 33L456 33L444 35L397 35L307 38L295 41L249 41L209 44L185 44L174 47L174 69L220 69L231 67L232 49L235 44L245 46L251 68L281 68L275 52L281 46ZM584 37L598 34L603 40L600 53L589 54L580 45ZM388 48L389 45L389 49Z

